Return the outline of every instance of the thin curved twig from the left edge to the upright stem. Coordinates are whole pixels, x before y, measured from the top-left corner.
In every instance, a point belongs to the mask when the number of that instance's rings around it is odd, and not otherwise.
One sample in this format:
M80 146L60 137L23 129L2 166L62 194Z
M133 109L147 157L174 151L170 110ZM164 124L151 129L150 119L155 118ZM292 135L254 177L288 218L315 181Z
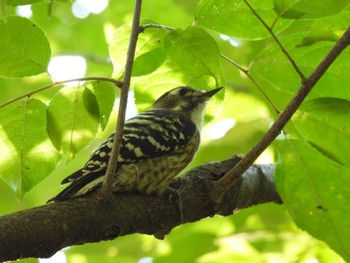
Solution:
M30 97L36 93L39 93L41 91L44 91L44 90L47 90L47 89L51 89L51 88L54 88L54 87L57 87L57 86L60 86L60 85L63 85L65 83L68 83L68 82L73 82L73 81L86 81L86 80L100 80L100 81L108 81L108 82L112 82L113 84L115 84L117 87L121 88L122 87L122 82L119 81L119 80L115 80L115 79L112 79L112 78L105 78L105 77L84 77L84 78L76 78L76 79L67 79L67 80L62 80L62 81L56 81L54 83L51 83L49 85L46 85L44 87L41 87L39 89L36 89L36 90L33 90L33 91L30 91L26 94L23 94L21 96L18 96L16 98L13 98L9 101L6 101L5 103L1 104L0 105L0 108L2 107L5 107L6 105L9 105L17 100L20 100L20 99L23 99L25 97Z

